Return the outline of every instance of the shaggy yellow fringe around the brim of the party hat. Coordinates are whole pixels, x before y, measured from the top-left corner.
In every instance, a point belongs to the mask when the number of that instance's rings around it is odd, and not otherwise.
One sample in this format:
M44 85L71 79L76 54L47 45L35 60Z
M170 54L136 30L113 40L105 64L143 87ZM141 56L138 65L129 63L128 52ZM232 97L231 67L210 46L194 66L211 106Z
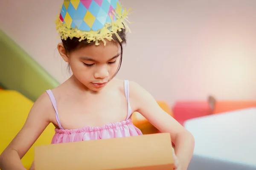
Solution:
M111 41L113 40L112 35L115 34L118 40L122 42L122 39L117 32L122 31L124 28L127 28L127 30L131 32L126 23L130 23L127 17L129 11L130 9L126 11L126 8L123 10L122 14L116 14L116 12L113 11L113 14L116 16L116 21L113 21L113 18L111 17L111 23L105 23L104 27L98 31L81 31L77 28L68 27L66 23L61 21L58 15L57 20L55 20L56 30L58 31L58 34L60 34L62 40L67 40L68 37L70 39L76 37L80 38L79 41L86 39L87 42L96 42L96 45L99 45L99 41L103 41L104 45L106 45L104 39Z

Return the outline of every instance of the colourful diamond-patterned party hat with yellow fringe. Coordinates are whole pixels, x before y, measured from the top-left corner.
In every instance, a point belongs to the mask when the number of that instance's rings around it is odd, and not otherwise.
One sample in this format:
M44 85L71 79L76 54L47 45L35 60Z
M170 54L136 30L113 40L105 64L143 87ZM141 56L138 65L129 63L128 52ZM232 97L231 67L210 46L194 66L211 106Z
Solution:
M123 28L130 31L126 22L130 10L122 8L119 0L64 0L56 20L61 39L77 37L79 41L96 42L112 40L112 35Z

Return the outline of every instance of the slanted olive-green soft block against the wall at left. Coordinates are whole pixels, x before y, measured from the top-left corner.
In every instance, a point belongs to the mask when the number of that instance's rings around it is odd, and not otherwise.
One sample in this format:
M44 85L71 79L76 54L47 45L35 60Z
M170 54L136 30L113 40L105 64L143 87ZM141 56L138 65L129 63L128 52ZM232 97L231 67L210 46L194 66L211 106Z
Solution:
M35 102L44 91L58 85L55 78L0 29L1 87L18 91Z

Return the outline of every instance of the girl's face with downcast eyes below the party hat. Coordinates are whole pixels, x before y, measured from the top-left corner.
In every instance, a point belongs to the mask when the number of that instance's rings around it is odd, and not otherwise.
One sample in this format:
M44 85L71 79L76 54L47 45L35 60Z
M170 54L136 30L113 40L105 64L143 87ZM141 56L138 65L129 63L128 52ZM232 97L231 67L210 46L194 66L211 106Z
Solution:
M93 42L92 42L93 43ZM116 73L120 62L120 45L107 42L89 45L67 54L73 76L92 91L101 90Z

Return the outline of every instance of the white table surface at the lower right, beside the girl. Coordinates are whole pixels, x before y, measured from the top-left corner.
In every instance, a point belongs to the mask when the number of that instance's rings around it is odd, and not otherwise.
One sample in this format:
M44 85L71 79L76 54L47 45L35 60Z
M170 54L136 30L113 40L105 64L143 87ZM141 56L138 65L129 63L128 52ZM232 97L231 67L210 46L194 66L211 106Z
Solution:
M195 138L189 170L256 170L256 108L190 119L184 127Z

